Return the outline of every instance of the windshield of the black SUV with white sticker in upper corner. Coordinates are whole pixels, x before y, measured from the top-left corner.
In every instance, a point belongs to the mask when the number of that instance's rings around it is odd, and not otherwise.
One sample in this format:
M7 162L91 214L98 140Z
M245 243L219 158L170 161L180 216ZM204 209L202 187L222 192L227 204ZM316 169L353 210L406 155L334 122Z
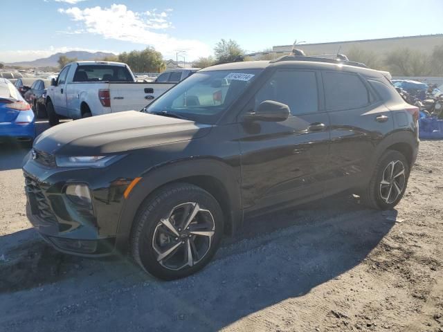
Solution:
M147 113L214 124L262 69L197 72L152 102Z

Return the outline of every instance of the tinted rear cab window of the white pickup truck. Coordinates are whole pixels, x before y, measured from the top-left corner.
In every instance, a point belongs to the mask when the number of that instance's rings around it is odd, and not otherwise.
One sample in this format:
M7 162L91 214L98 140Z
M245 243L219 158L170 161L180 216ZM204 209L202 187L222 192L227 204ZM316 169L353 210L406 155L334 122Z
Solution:
M73 82L134 82L131 74L123 66L91 65L78 66Z

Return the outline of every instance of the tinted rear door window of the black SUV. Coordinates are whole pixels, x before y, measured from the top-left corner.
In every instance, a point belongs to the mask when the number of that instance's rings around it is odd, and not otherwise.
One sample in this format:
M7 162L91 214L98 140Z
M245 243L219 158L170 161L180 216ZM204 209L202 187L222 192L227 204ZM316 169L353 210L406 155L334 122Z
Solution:
M358 109L370 103L369 92L359 76L351 73L323 72L326 109Z

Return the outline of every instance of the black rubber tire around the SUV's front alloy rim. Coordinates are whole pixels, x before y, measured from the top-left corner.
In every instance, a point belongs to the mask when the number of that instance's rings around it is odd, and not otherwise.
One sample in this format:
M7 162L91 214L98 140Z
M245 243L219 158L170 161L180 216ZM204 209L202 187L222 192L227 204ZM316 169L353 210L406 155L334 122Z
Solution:
M207 212L202 212L204 216L201 216L201 214L199 214L198 217L196 216L194 219L192 219L193 222L190 224L191 227L195 228L196 225L198 227L199 223L197 223L197 219L210 218L211 223L213 223L214 225L214 233L212 237L209 237L208 239L204 238L204 241L207 241L207 243L209 243L206 244L206 246L208 246L208 249L204 255L201 255L200 259L197 259L197 262L195 264L193 258L198 257L198 255L192 254L190 255L190 257L192 257L193 264L190 264L190 266L181 266L182 263L177 263L177 265L181 267L177 270L171 270L170 268L163 266L163 264L165 263L160 263L161 261L163 262L163 259L158 261L161 253L154 249L154 243L157 243L156 239L158 239L157 236L160 233L162 233L163 237L165 237L165 232L159 231L160 228L163 228L163 230L167 230L166 228L164 228L164 224L160 222L161 219L172 220L170 218L168 219L168 215L172 211L177 211L177 206L190 204L188 202L198 203L201 209L210 211L210 214L208 214ZM194 205L191 205L191 207L192 206ZM192 214L192 212L190 212L189 210L188 212L182 212L182 216L184 216L185 213L186 216L190 216ZM180 230L179 225L181 223L179 223L179 221L175 221L175 219L173 220L173 223L175 224L174 229ZM143 268L147 273L150 273L151 275L154 275L154 277L157 277L159 279L174 280L187 277L188 275L192 275L192 273L196 273L197 271L201 270L201 268L204 268L204 266L208 264L210 259L213 258L215 252L217 251L217 248L219 247L219 243L223 234L223 223L223 212L221 211L219 203L211 194L201 189L200 187L190 185L188 183L174 183L172 185L166 185L165 187L156 190L156 192L150 195L142 203L141 208L139 208L138 210L136 218L134 219L134 225L132 228L130 239L132 257L138 263L138 265L140 265L141 268ZM189 232L192 232L192 228ZM186 230L183 228L183 232L185 231ZM196 235L191 235L189 233L187 236L189 236L190 239L185 237L185 241L181 241L183 240L183 234L181 233L175 239L174 234L172 234L172 236L166 236L166 238L168 238L168 246L170 248L172 246L178 247L177 250L173 251L175 252L174 254L167 256L169 258L165 259L165 261L168 261L168 259L183 257L184 263L186 264L186 259L188 258L184 258L185 256L182 256L179 250L191 250L191 246L189 244L190 242L188 241L194 241L192 251L196 252L195 248L197 248L197 246L195 245L195 240L202 239L201 237L198 238ZM194 237L194 240L191 240L192 236ZM183 245L181 245L180 243L183 243ZM165 246L164 248L168 247ZM204 248L204 250L206 250L206 248ZM187 252L188 251L183 251L183 255L189 257L187 255ZM176 254L177 256L174 256Z

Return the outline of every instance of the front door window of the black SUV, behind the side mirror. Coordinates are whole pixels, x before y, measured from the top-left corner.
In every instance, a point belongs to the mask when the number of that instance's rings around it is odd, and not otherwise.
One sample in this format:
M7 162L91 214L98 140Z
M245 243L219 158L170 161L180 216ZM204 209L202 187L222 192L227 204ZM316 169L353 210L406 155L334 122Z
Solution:
M289 70L275 72L255 94L255 109L264 100L287 104L294 116L318 111L316 73Z

